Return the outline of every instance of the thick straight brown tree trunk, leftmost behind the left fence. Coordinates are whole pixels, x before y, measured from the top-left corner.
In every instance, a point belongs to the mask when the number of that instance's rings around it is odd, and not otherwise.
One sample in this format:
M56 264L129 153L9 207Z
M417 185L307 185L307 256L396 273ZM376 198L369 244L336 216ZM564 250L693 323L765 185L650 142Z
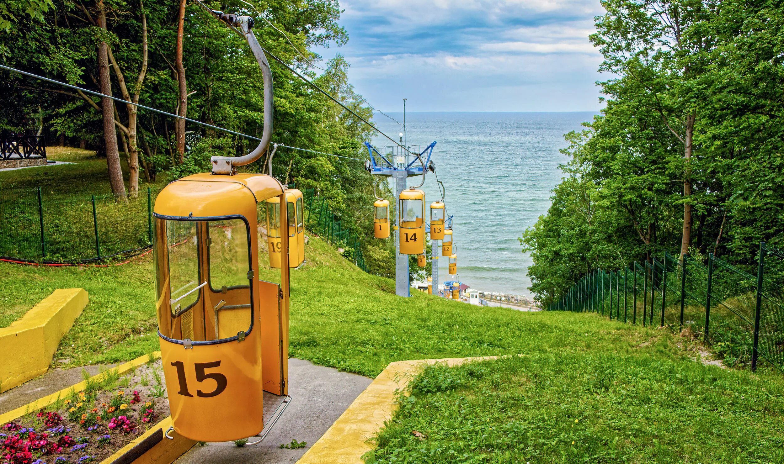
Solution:
M106 31L106 9L103 0L98 0L98 25ZM106 42L98 45L98 78L100 92L111 95L111 80L109 78L109 56ZM114 132L114 102L106 96L101 97L103 113L103 140L106 143L106 162L109 169L109 184L112 193L117 197L125 198L125 183L122 182L122 169L120 168L120 154L117 147L117 133Z

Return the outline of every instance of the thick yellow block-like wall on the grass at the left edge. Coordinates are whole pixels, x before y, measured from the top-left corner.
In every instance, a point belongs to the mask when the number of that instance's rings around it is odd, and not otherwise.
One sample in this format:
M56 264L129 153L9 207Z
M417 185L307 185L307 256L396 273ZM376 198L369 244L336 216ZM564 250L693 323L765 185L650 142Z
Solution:
M49 369L60 339L85 306L87 292L83 288L62 288L9 327L0 328L0 392Z

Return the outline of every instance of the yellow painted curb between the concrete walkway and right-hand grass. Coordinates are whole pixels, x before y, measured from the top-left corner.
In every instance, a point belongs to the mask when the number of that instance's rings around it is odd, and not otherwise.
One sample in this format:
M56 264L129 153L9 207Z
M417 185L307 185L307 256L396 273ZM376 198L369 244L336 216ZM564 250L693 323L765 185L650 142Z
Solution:
M297 464L362 464L362 455L372 449L371 438L392 419L394 392L402 390L416 374L430 364L438 362L456 366L471 361L497 359L485 357L449 357L418 361L396 361L390 363L362 392L323 437L303 455Z

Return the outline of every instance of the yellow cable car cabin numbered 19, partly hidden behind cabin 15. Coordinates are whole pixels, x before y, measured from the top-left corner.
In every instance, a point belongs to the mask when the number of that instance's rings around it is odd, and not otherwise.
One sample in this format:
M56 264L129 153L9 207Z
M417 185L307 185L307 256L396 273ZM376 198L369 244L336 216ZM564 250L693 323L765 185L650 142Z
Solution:
M305 216L303 195L298 189L285 189L286 213L289 224L289 267L298 267L305 261ZM281 199L269 198L267 203L267 246L270 266L281 266Z

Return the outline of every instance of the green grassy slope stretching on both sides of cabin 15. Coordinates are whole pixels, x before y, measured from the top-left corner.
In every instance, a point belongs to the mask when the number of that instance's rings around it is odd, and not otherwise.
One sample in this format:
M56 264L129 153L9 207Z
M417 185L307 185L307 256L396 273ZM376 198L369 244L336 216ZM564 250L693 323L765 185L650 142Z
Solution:
M84 156L81 171L51 169L52 179L11 173L64 196L103 193L103 161ZM6 187L9 177L0 176ZM469 307L419 293L398 299L393 281L363 273L318 239L307 259L292 271L292 356L374 376L401 359L523 355L427 372L382 433L379 462L782 461L779 375L704 367L670 332L595 315ZM151 271L149 256L108 268L0 263L0 327L55 288L81 286L90 304L57 364L129 360L158 346Z

